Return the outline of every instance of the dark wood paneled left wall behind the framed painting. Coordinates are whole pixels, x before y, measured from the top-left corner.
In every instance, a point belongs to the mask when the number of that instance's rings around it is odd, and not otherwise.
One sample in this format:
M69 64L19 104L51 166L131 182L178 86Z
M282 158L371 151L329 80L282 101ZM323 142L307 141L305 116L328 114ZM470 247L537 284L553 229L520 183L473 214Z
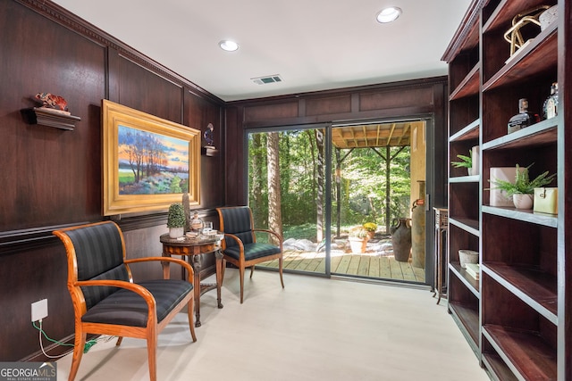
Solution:
M0 46L0 360L46 360L30 304L46 298L47 335L71 338L65 253L51 232L104 219L102 99L203 131L213 123L219 146L224 103L49 1L0 2ZM24 121L21 110L35 106L31 98L39 92L68 101L81 118L75 130ZM223 176L222 155L201 156L198 209L215 222L214 207L224 203ZM122 216L118 222L129 257L161 253L158 236L167 231L166 213ZM135 275L161 273L160 266L140 267Z

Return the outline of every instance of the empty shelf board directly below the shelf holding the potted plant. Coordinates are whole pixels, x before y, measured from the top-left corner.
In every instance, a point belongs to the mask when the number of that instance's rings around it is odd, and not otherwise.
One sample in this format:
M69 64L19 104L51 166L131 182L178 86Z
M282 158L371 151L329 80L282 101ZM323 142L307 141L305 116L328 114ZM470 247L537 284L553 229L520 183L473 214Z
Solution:
M552 324L558 324L556 277L540 269L509 266L500 262L484 262L482 270Z

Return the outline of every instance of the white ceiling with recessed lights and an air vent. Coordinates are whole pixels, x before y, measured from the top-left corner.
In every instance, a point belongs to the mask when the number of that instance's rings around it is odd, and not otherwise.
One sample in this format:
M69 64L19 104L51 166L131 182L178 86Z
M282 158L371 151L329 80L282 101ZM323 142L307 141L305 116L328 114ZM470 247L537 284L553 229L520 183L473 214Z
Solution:
M54 0L224 101L446 75L470 1ZM403 14L380 24L387 5ZM283 81L251 80L273 74Z

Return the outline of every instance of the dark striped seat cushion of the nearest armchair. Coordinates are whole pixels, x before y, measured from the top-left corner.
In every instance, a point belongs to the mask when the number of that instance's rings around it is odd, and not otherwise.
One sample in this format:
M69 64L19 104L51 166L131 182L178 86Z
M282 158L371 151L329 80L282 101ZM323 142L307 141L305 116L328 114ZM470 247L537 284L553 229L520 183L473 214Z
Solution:
M157 323L162 321L193 289L193 285L189 282L176 279L147 280L139 282L138 285L147 288L153 294L156 301ZM139 294L120 288L88 310L81 317L81 321L147 327L147 311L147 303Z

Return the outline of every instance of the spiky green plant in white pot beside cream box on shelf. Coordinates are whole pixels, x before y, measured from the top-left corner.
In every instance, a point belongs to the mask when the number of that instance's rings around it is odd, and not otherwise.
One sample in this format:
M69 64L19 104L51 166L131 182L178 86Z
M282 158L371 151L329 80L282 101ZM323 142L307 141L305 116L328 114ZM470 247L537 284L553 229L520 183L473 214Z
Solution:
M555 173L549 175L547 170L531 180L528 175L528 170L533 164L522 169L517 164L517 174L515 175L514 183L501 179L492 181L492 185L495 186L494 189L500 189L507 196L512 197L512 202L517 209L533 209L534 188L547 186L556 177Z

